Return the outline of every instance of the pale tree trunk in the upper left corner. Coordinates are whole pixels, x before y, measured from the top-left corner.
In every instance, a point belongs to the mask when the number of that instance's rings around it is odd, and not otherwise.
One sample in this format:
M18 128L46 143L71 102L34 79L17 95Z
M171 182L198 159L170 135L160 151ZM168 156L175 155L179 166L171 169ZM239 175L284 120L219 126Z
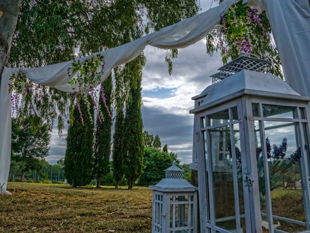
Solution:
M2 66L9 66L12 39L21 2L22 0L0 0L0 11L3 14L0 17L0 85L3 72Z

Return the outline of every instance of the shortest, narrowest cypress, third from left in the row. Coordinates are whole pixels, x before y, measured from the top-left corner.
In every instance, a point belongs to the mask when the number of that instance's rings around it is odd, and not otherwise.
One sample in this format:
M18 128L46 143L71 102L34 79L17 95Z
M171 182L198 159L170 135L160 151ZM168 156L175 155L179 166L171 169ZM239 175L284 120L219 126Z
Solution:
M118 188L118 184L122 181L124 176L124 111L123 106L117 111L116 121L115 121L115 132L113 135L113 175L115 179L115 188Z

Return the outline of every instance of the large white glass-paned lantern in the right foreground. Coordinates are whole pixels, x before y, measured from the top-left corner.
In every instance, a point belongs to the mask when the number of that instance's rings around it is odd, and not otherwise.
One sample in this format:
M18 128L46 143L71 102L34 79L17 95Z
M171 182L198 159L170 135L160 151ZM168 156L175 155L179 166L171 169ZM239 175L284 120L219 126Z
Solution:
M242 55L193 97L203 233L310 231L310 98L266 67Z

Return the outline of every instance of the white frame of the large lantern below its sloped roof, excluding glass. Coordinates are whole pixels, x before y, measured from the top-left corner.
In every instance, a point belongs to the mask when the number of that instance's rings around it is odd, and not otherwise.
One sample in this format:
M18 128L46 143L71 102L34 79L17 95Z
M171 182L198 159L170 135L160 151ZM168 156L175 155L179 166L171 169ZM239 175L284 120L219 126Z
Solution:
M252 72L252 71L251 71ZM231 77L228 79L232 79ZM222 81L223 82L223 81ZM215 85L219 85L217 83ZM225 90L223 90L225 91ZM208 93L202 93L193 99L200 103L207 100ZM243 172L243 195L244 195L244 215L240 215L237 185L237 165L236 153L232 150L232 169L233 169L233 193L234 193L234 209L236 219L236 232L242 232L243 226L240 224L240 217L245 217L246 231L262 233L262 215L266 216L269 226L273 226L273 220L282 220L294 224L305 226L310 231L310 187L309 187L309 167L310 160L309 149L308 151L301 150L301 175L302 175L302 188L303 200L305 205L305 218L306 222L297 221L272 214L271 205L271 192L269 183L269 169L267 161L267 150L265 143L262 143L263 167L264 167L264 180L266 192L266 213L261 213L259 187L258 187L258 170L256 161L255 149L255 128L254 120L259 122L260 125L260 140L265 142L265 127L264 121L281 121L294 123L296 125L296 136L298 146L304 148L305 145L310 148L310 110L308 97L300 95L287 95L283 93L270 93L264 91L242 90L232 94L228 94L216 101L210 101L204 104L197 104L195 101L195 109L190 113L194 113L194 154L193 159L196 157L198 166L198 181L199 181L199 204L200 204L200 221L202 232L220 232L231 233L232 231L223 229L217 226L217 222L225 219L216 219L215 216L215 197L213 186L213 165L212 152L210 151L210 130L218 127L229 126L231 145L235 145L233 132L234 127L238 125L240 132L240 146L241 146L241 159L242 159L242 172ZM253 116L252 103L257 103L259 106L259 116ZM272 104L279 106L292 106L296 107L296 117L294 118L281 118L281 117L264 117L263 104ZM237 108L237 119L233 117L233 108ZM211 114L228 110L229 120L217 125L209 125L208 117ZM303 114L304 117L301 117ZM307 154L308 153L308 154ZM254 182L253 182L254 181ZM226 219L227 220L227 219ZM269 228L269 233L283 233L283 231Z

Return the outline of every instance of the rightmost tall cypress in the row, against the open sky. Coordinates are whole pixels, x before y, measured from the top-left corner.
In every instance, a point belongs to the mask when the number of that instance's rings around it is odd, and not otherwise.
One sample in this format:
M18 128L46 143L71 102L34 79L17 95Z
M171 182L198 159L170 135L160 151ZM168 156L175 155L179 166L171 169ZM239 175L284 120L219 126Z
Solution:
M144 66L143 56L139 56L130 62L130 66L137 66L134 80L136 86L131 87L132 101L126 105L124 120L124 174L128 181L128 189L132 189L135 181L139 178L143 167L143 135L141 116L141 76Z

